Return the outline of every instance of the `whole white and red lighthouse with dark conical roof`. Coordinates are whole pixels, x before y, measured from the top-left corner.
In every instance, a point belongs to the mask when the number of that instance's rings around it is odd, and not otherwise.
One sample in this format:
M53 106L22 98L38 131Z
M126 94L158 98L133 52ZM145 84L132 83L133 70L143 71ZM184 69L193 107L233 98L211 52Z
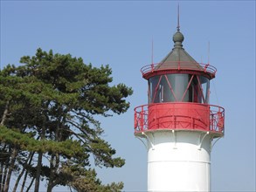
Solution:
M141 70L148 104L135 107L135 136L148 152L148 191L211 191L211 149L225 133L224 108L210 104L217 69L183 40L178 22L170 53Z

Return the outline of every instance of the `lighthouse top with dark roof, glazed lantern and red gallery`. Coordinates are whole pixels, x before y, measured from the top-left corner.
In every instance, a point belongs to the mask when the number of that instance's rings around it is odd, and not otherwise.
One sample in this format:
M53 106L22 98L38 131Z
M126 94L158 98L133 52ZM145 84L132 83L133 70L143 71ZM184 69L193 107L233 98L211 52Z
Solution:
M210 105L210 81L216 68L198 63L183 49L177 28L174 47L160 63L142 67L148 80L148 105L135 108L135 134L162 129L224 134L224 108Z

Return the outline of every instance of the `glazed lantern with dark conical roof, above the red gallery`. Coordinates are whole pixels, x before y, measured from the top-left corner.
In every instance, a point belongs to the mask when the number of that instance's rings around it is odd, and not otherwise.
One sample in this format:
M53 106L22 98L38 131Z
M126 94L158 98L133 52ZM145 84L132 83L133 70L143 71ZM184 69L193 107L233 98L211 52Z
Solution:
M176 31L173 50L156 65L142 68L149 81L149 104L163 102L209 102L210 79L216 69L198 64L183 49L183 34Z

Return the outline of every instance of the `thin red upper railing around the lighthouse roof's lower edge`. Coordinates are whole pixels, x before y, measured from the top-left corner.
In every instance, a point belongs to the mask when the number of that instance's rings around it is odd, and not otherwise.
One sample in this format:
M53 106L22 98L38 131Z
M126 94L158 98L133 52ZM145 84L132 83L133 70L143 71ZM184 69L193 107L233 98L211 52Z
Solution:
M168 65L167 67L161 68L161 65ZM192 65L193 67L190 67ZM198 66L198 67L195 67ZM187 61L170 61L164 63L157 63L151 65L145 65L142 67L142 75L148 72L156 72L162 70L190 70L190 71L200 71L200 72L209 72L215 76L217 69L209 64L202 64L197 62L187 62Z

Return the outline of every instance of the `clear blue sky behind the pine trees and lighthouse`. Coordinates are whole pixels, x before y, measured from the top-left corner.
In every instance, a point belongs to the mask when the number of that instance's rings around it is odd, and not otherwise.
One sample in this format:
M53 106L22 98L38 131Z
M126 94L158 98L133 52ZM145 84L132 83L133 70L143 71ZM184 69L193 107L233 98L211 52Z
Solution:
M255 1L179 3L183 47L207 63L210 42L210 64L218 69L210 101L225 107L225 137L211 153L212 191L255 191ZM176 7L177 1L1 1L2 68L41 47L108 64L114 84L133 87L127 113L100 118L104 138L126 165L97 168L98 175L124 182L125 191L147 189L147 153L134 136L133 109L147 103L140 69L151 63L152 38L154 62L173 47Z

